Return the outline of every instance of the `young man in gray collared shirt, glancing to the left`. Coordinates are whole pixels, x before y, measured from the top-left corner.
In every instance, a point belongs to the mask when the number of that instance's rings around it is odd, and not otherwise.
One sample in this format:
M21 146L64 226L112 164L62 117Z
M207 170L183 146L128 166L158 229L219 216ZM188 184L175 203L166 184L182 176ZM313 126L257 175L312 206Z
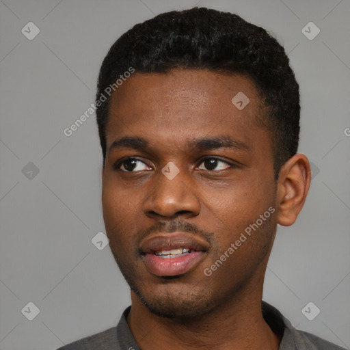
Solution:
M62 350L340 349L262 302L277 224L310 187L299 85L275 39L230 13L160 14L111 46L96 107L131 307Z

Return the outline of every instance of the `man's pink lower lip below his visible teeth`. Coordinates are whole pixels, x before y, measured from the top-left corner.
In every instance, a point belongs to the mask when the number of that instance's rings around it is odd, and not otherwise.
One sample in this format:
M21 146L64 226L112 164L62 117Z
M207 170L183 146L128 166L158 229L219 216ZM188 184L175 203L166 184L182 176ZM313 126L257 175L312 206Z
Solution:
M145 254L145 265L150 272L157 276L183 275L195 266L204 252L192 252L178 258L160 258L152 253Z

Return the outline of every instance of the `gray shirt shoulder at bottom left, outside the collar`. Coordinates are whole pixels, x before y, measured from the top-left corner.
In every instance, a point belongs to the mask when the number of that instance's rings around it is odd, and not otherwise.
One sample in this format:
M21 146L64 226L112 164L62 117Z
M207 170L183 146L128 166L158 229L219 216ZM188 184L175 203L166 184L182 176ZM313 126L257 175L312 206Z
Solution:
M103 332L87 336L75 342L71 342L57 350L120 350L116 327L106 329Z

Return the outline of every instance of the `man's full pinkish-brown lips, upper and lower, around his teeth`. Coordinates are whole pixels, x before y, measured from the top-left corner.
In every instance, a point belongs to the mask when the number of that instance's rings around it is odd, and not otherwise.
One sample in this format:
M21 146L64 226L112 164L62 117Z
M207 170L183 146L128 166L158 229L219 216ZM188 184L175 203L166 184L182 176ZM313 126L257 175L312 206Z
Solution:
M177 258L161 258L154 252L172 250L178 247L195 250ZM140 253L144 257L144 264L154 275L165 277L183 275L193 269L208 251L209 245L200 237L185 232L160 233L150 237L140 245Z

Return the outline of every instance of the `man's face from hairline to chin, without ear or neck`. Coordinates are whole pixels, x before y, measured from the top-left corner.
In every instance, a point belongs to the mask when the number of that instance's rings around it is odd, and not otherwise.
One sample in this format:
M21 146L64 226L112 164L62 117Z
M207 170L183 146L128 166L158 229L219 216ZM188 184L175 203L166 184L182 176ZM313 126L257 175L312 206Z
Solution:
M245 107L231 101L239 92ZM276 227L263 113L251 79L206 70L135 73L113 95L103 216L152 312L192 317L262 287Z

